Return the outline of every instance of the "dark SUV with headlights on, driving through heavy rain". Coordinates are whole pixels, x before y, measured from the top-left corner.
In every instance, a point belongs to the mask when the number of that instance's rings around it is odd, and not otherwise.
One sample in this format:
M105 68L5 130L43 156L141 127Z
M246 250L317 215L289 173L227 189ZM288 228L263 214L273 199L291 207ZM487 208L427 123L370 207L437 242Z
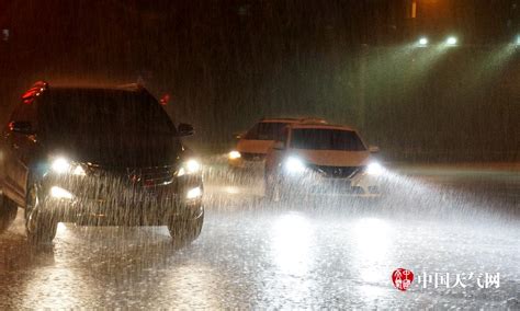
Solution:
M37 82L1 139L0 230L20 206L34 242L52 242L60 221L166 224L176 241L193 241L204 218L201 165L180 140L192 134L139 85Z

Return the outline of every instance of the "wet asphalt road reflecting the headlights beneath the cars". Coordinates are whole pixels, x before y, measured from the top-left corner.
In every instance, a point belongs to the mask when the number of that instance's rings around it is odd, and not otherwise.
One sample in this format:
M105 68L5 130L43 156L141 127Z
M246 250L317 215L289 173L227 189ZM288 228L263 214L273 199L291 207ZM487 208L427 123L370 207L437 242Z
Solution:
M520 309L518 170L395 165L381 201L271 204L260 175L222 168L206 170L206 222L184 249L161 227L74 224L32 247L19 210L0 235L0 309ZM416 275L406 292L397 267ZM436 273L466 287L423 288ZM479 287L486 273L498 288Z

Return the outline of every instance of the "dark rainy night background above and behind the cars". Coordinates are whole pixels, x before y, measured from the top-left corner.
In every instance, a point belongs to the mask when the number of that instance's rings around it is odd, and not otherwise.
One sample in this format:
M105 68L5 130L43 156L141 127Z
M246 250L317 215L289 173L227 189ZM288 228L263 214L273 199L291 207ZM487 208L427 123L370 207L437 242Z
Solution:
M0 0L0 28L2 122L36 80L139 81L212 150L319 116L396 160L519 161L517 0Z

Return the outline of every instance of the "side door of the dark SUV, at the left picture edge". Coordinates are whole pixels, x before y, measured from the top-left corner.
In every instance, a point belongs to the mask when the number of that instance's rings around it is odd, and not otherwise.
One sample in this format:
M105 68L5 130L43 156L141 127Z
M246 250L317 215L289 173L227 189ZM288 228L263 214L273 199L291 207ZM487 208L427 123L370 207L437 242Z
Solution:
M33 133L18 133L13 127L16 123L29 123ZM36 130L36 103L34 100L24 99L14 108L2 136L3 191L22 206L25 201L29 163L37 142Z

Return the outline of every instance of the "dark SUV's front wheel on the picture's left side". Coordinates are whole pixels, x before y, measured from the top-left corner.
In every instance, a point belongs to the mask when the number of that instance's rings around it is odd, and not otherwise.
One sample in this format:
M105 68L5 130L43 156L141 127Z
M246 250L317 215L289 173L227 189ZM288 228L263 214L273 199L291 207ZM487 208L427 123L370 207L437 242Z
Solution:
M57 220L49 211L45 210L39 198L38 186L32 185L27 189L25 204L25 231L31 243L48 244L56 237Z

